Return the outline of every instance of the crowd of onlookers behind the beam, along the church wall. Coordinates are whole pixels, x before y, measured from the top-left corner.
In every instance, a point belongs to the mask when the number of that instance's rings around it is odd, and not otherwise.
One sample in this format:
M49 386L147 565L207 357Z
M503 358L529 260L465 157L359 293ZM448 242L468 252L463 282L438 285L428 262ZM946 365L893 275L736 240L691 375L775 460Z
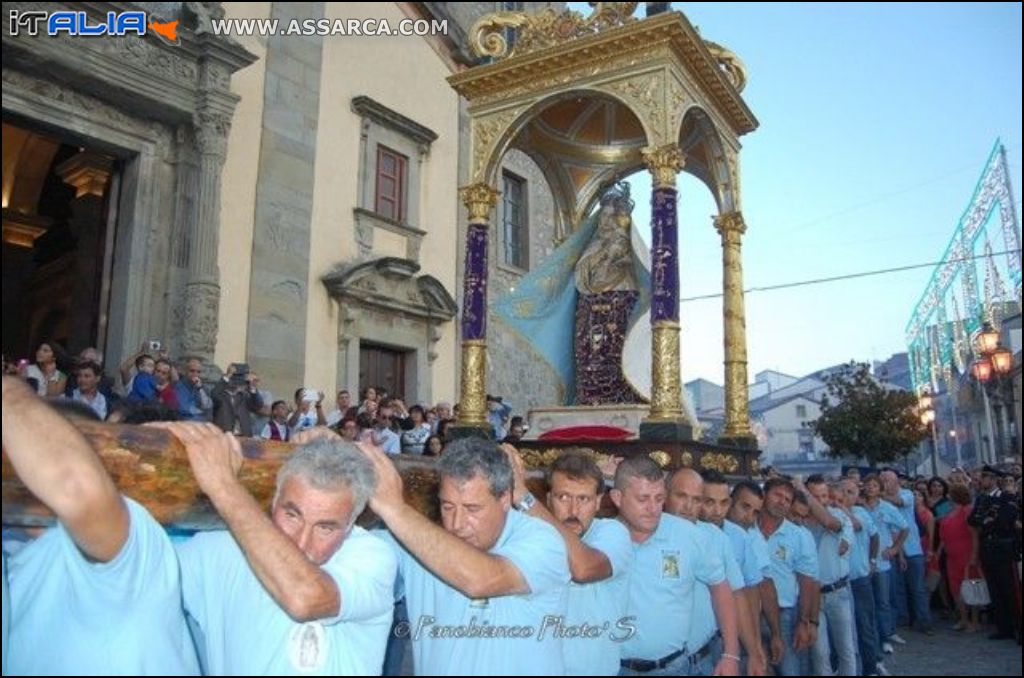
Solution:
M348 440L371 440L388 454L437 456L458 405L407 406L383 387L369 386L354 397L348 389L333 402L324 391L299 387L279 398L246 364L231 364L216 381L206 381L199 358L173 362L160 342L147 341L119 366L117 380L102 356L85 348L69 356L55 342L41 343L35 359L9 363L4 373L26 379L36 392L89 408L100 420L121 423L208 421L239 435L289 440L295 433L328 426ZM526 430L522 417L500 396L487 395L487 417L499 440L515 442Z

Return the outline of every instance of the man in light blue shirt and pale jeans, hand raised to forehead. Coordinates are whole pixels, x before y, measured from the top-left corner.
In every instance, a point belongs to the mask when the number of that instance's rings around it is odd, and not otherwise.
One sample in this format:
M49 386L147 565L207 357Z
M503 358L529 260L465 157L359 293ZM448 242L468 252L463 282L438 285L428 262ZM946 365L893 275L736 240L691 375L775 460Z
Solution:
M838 661L839 675L857 675L857 650L854 643L853 600L850 595L850 549L853 524L833 506L831 493L824 477L815 474L807 479L807 504L811 509L808 529L814 535L818 550L818 579L821 582L821 610L818 638L814 645L814 671L833 675L831 654Z

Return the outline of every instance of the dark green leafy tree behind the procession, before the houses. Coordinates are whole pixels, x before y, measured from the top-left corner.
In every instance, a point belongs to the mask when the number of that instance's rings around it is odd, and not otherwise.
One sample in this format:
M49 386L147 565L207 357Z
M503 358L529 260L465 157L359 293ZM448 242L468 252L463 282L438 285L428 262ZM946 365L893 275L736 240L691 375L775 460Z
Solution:
M879 383L866 363L850 363L825 379L821 416L810 425L830 457L863 457L873 467L916 450L928 437L918 396Z

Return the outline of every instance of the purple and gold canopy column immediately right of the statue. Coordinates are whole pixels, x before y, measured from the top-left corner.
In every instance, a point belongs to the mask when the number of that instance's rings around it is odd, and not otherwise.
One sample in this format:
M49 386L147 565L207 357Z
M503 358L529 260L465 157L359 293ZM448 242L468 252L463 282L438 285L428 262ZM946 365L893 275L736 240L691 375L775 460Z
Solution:
M650 416L640 424L645 440L689 440L693 427L683 413L679 359L679 219L676 175L683 153L670 143L646 149L652 176L650 248L651 394Z

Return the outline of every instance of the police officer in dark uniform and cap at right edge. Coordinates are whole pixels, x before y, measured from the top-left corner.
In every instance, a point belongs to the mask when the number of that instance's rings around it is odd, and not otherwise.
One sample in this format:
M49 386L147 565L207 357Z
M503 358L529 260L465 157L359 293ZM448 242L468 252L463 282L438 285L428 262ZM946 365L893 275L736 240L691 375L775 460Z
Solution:
M1017 497L999 490L1006 473L991 466L981 469L981 494L968 523L978 529L981 566L995 609L996 633L992 640L1017 639L1020 643L1020 582L1017 579Z

